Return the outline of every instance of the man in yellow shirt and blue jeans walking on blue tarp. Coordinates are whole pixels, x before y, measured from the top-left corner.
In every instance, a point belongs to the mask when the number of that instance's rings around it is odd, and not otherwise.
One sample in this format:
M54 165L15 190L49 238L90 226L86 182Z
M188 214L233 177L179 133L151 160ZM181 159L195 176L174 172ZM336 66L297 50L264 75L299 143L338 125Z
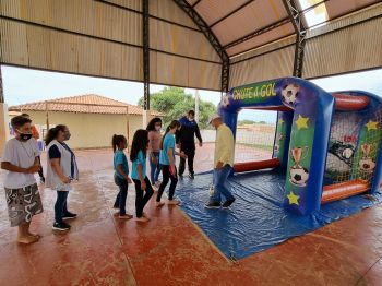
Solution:
M208 122L216 129L214 156L214 194L205 205L207 208L228 208L235 198L230 192L228 176L234 167L235 139L229 127L223 123L219 115L214 115ZM222 205L222 194L226 201Z

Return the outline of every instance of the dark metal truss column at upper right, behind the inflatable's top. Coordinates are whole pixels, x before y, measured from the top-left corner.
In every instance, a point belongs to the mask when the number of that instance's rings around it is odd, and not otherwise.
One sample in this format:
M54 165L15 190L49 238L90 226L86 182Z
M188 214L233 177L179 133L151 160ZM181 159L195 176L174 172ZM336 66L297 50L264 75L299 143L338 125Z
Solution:
M295 0L283 0L285 9L288 12L291 24L295 27L297 35L296 50L295 50L295 62L294 62L294 76L302 76L303 65L303 49L306 44L307 28L302 22L303 13L298 9Z

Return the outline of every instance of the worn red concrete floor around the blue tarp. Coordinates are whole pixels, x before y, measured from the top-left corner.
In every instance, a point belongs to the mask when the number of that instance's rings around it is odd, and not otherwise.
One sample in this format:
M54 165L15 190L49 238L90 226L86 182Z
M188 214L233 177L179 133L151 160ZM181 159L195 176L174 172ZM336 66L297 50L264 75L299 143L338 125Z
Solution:
M198 153L198 170L211 168L211 154ZM115 218L111 152L76 155L70 233L52 233L56 195L40 187L45 212L32 228L43 238L20 246L0 199L0 285L382 285L382 205L234 263L177 206L151 201L147 224Z

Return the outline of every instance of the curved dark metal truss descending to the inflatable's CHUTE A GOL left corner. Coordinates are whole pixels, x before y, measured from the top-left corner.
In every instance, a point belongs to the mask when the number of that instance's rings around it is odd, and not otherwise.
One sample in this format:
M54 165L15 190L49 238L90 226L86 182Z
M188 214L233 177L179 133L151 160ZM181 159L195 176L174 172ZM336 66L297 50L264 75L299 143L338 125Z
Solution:
M229 85L229 57L227 52L223 49L220 43L218 41L215 34L211 31L205 21L199 15L199 13L193 9L195 5L190 5L186 0L174 0L181 10L183 10L196 24L196 26L202 31L204 36L207 38L210 44L213 46L217 55L222 59L222 92L228 92Z

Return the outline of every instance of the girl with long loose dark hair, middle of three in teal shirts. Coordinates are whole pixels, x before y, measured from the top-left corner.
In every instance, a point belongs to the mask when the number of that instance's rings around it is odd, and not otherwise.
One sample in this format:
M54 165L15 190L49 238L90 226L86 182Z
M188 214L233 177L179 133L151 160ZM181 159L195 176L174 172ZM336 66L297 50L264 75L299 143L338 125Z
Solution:
M131 178L135 184L135 210L136 221L148 222L150 218L143 212L144 206L152 198L154 191L146 176L146 154L148 148L148 132L136 130L131 145L130 159L132 162ZM143 195L143 192L145 194Z

